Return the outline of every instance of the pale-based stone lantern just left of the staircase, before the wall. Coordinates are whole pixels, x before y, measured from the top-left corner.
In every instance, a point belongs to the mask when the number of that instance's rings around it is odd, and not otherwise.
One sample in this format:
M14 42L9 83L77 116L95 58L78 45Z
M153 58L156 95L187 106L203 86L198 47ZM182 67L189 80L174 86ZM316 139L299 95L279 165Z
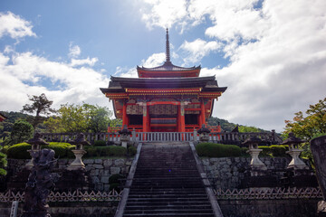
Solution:
M78 137L71 141L70 144L75 145L76 148L72 150L75 155L74 161L68 166L68 170L80 170L84 169L85 165L82 163L82 156L86 154L86 151L83 149L83 146L90 146L91 144L86 141L85 136L81 133Z

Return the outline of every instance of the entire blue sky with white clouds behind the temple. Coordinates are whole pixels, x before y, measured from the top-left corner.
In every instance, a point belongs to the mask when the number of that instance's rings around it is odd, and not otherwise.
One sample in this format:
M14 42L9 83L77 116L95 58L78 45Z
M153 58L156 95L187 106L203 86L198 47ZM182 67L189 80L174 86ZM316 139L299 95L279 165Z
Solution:
M325 97L325 12L323 0L2 0L0 110L43 92L55 108L111 108L99 88L161 64L168 27L172 62L228 87L214 116L282 131Z

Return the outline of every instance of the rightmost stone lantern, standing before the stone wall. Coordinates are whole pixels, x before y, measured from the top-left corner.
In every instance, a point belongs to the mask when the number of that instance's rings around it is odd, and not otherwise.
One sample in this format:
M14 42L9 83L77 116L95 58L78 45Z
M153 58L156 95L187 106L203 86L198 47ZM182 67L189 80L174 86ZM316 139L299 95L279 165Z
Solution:
M294 137L293 133L289 133L289 137L283 141L283 145L289 146L289 151L286 152L290 156L292 156L292 161L287 166L288 169L294 169L294 170L304 170L309 169L306 164L300 159L300 154L302 153L302 149L298 148L298 145L301 144L303 141L298 138Z

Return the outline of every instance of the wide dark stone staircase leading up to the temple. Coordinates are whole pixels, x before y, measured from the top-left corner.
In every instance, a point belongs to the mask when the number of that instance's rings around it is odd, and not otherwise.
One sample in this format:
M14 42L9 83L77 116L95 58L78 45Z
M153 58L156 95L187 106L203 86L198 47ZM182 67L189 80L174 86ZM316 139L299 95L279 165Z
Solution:
M216 215L188 144L145 144L123 216Z

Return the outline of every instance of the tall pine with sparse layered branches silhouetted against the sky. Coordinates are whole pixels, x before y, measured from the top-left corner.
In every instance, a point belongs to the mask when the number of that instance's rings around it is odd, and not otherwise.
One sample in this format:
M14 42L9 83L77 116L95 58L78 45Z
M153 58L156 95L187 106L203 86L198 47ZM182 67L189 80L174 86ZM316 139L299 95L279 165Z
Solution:
M42 93L40 96L28 96L29 100L31 100L33 103L25 104L23 106L22 112L27 112L30 114L34 114L36 112L34 120L33 120L33 127L35 128L38 124L43 122L43 115L50 115L51 112L55 112L54 109L51 109L51 106L53 104L53 101L46 98L45 94Z

